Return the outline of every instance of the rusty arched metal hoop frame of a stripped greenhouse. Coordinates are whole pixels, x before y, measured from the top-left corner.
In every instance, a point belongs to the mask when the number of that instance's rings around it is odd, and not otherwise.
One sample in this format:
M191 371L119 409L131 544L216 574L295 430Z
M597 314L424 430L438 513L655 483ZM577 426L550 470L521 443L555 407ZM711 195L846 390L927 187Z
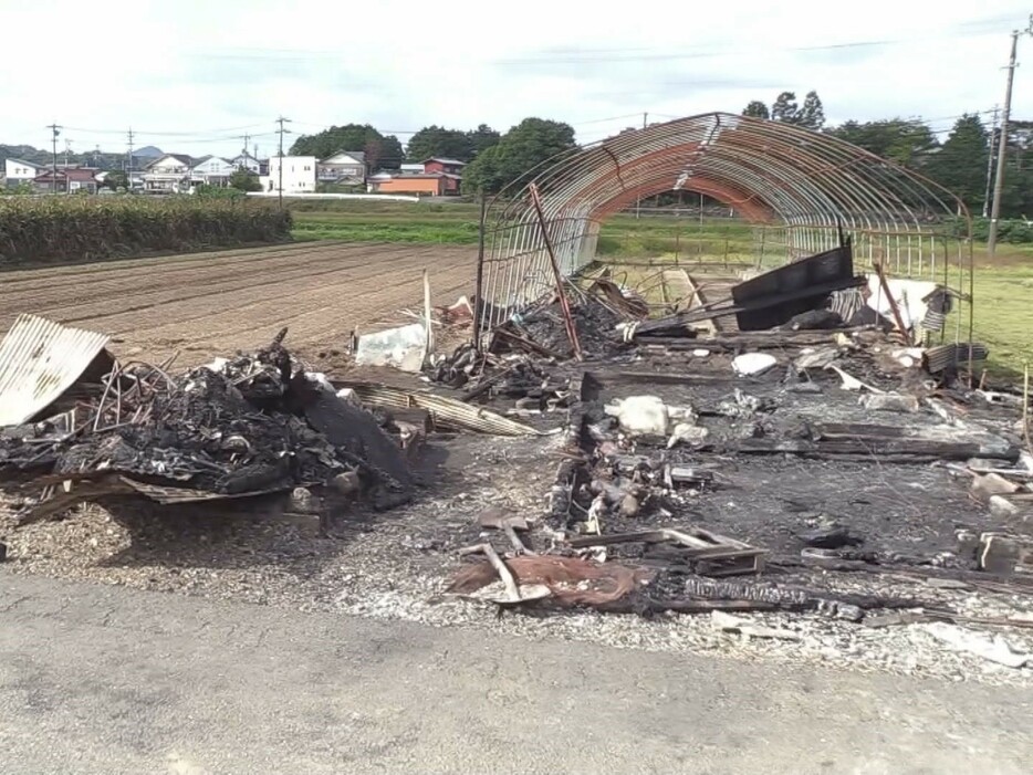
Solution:
M839 244L841 228L866 265L935 280L968 304L972 336L972 228L957 197L922 176L829 135L708 113L624 132L567 151L489 202L482 222L476 336L555 292L561 272L595 260L602 223L643 198L696 191L734 210L758 232L758 260L785 262ZM530 196L541 195L547 239ZM959 223L961 224L959 229Z

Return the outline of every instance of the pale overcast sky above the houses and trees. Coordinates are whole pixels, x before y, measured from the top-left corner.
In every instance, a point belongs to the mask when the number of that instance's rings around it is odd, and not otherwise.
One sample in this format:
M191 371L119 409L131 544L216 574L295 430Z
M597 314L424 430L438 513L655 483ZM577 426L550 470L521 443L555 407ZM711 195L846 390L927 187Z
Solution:
M0 142L49 147L56 122L74 150L123 151L132 127L137 146L195 156L236 151L244 133L268 155L278 115L301 134L368 122L403 142L428 124L504 130L534 115L593 142L644 112L738 113L812 88L831 123L924 116L946 130L1003 101L1009 32L1030 10L1018 0L2 4ZM1029 36L1023 59L1033 62ZM1033 118L1033 67L1016 71L1013 115Z

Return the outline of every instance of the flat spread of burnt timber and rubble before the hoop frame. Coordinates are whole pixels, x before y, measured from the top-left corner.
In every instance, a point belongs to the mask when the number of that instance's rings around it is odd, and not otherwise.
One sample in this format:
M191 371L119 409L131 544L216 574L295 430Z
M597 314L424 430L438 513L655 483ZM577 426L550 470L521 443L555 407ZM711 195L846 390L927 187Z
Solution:
M546 513L481 520L450 590L501 606L963 621L880 579L1033 589L1022 397L997 411L969 370L985 347L933 344L951 297L926 285L855 275L844 244L660 318L620 305L615 285L570 291L574 326L555 300L511 316L483 350L457 354L461 389L507 413L563 411L566 443ZM596 332L578 364L593 306L617 336ZM831 493L829 474L853 482ZM937 476L942 495L911 496ZM948 476L984 484L981 501L948 493ZM851 499L873 478L898 501L879 513Z

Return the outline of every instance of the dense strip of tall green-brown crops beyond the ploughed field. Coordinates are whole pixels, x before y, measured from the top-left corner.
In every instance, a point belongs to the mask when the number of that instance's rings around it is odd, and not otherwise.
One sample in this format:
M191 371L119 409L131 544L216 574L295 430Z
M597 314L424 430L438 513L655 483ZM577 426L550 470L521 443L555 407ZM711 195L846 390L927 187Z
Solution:
M290 212L252 201L0 198L0 269L282 242L290 234Z

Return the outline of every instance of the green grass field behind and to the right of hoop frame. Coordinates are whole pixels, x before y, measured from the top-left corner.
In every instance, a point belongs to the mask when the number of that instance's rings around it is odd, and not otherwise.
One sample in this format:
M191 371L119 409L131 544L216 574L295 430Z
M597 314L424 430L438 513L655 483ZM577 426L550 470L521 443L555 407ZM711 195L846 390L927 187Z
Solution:
M291 211L298 240L476 244L478 239L479 209L467 202L312 201L292 203ZM769 233L764 264L776 265L784 253L778 232ZM625 276L635 280L675 263L716 270L752 265L757 243L743 223L619 214L603 226L598 256L625 264ZM651 269L628 265L640 261ZM990 346L993 371L1021 370L1023 363L1033 363L1033 245L1001 244L992 265L985 248L977 245L974 265L975 338Z

